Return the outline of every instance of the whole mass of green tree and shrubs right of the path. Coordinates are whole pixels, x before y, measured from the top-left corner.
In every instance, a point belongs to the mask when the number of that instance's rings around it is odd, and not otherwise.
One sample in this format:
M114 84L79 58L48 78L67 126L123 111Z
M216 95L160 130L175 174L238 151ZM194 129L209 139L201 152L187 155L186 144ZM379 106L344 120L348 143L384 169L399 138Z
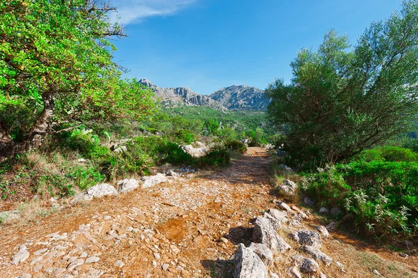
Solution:
M281 162L305 171L297 194L381 242L418 235L418 1L402 7L353 47L330 31L291 63L291 84L267 89L268 115L286 131Z

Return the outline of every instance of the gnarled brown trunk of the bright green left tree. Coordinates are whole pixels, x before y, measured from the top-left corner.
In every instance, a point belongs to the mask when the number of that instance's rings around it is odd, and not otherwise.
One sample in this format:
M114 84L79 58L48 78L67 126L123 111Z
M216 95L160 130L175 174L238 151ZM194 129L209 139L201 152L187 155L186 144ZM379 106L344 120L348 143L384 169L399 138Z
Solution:
M54 117L55 102L52 97L52 93L47 91L42 94L42 100L44 103L44 109L40 114L38 121L33 125L31 132L31 141L33 145L39 145L42 135L47 134L49 130L49 124Z

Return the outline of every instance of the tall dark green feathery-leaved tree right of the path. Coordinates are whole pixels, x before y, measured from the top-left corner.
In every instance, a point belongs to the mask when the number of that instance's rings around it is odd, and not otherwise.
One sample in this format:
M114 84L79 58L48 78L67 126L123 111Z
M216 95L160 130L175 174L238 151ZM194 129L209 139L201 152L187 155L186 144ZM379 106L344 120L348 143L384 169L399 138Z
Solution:
M408 130L418 113L417 43L413 0L373 22L355 47L330 31L317 52L302 49L291 84L277 79L267 89L294 162L333 163Z

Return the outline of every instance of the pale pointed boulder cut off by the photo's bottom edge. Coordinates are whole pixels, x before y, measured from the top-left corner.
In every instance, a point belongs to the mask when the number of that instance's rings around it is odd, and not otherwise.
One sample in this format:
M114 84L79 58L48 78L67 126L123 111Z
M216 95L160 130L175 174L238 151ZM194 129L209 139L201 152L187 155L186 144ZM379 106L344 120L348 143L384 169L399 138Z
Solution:
M234 278L268 278L267 268L261 258L252 249L245 247L242 243L238 245L235 252Z

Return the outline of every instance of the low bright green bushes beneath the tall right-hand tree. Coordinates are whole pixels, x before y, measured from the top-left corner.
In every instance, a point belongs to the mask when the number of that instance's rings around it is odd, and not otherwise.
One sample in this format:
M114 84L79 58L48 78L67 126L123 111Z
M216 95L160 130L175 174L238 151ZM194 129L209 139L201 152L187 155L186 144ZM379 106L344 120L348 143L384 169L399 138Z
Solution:
M347 163L304 176L319 206L339 206L359 231L379 240L418 235L418 153L398 147L364 150Z

